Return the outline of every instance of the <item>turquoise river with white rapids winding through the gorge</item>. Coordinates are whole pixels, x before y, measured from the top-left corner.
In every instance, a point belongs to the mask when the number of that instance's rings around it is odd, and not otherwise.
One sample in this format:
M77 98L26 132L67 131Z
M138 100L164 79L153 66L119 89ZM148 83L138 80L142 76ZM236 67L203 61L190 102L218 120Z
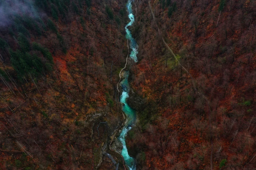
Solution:
M128 29L129 26L131 26L134 23L134 15L132 14L132 0L128 0L126 7L128 11L128 17L130 19L130 22L125 26L126 38L130 42L130 49L131 49L131 53L129 56L134 62L138 62L138 59L137 59L138 44L135 41L135 39L132 37L131 32ZM129 97L129 89L130 89L129 82L128 82L129 71L124 71L123 77L124 79L120 82L123 90L122 95L120 97L120 102L124 104L122 107L122 110L128 116L128 121L119 136L119 140L123 144L123 150L121 154L124 157L125 163L128 165L129 170L136 170L136 160L129 156L128 150L126 147L126 142L125 142L125 136L127 135L128 131L132 128L136 120L135 110L131 108L126 101L127 98Z

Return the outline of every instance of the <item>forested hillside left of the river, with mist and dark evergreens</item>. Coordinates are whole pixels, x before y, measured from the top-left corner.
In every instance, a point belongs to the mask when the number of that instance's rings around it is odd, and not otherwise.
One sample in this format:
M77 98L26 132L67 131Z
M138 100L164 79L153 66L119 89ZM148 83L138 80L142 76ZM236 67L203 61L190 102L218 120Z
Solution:
M125 3L0 0L0 169L114 168Z

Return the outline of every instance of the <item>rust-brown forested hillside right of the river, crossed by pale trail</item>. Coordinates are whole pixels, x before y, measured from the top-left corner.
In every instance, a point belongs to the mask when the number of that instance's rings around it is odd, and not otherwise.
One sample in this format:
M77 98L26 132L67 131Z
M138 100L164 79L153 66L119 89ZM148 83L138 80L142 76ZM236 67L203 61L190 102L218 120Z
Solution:
M255 169L256 2L134 4L138 169Z

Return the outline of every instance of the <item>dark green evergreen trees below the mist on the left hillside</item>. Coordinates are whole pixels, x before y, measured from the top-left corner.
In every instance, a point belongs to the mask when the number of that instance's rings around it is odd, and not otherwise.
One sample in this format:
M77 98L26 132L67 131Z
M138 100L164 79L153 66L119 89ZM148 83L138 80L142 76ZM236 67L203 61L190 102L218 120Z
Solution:
M18 1L22 2L22 0ZM2 6L7 4L1 2L0 0ZM9 46L9 44L0 37L0 50L9 55L11 64L17 72L17 75L21 77L28 74L36 76L42 71L52 69L52 54L48 49L38 43L31 42L31 40L38 39L42 35L46 36L46 31L50 30L56 34L63 53L66 53L65 40L59 33L56 24L58 24L59 20L68 22L70 17L67 16L71 11L74 15L80 15L81 24L83 29L85 29L86 22L82 15L86 14L90 16L90 8L92 5L91 0L33 0L29 4L31 5L31 13L16 13L15 15L9 16L11 25L7 30L9 35L11 35L10 37L13 37L18 43L18 47L11 44L11 46ZM6 8L9 7L8 5L9 4L6 5ZM83 10L85 10L85 12ZM108 17L120 26L121 20L118 16L114 16L112 9L106 6L105 10ZM46 14L50 14L52 20L47 19L43 21L39 15L42 11ZM125 17L125 8L120 10L120 15L122 19ZM39 55L40 52L43 57ZM3 76L2 72L1 75Z

